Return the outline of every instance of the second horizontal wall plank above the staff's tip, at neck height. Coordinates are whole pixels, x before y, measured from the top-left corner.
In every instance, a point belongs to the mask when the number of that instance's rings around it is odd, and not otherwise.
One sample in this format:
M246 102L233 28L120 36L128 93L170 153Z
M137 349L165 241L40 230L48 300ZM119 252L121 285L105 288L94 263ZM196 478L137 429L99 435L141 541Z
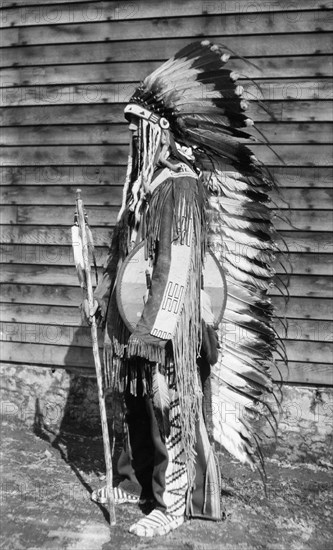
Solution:
M292 166L332 166L330 145L275 145L274 152L266 145L251 145L254 154L264 163ZM127 163L128 147L123 145L69 145L52 147L3 147L0 161L4 165L35 164L106 164L124 166ZM278 156L277 156L278 155ZM281 160L280 160L281 159Z

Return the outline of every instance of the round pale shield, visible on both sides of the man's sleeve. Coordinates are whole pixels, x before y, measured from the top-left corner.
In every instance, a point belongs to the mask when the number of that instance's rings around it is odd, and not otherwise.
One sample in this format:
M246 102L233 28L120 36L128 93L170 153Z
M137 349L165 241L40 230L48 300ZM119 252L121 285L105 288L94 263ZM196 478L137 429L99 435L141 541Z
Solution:
M145 260L144 242L132 250L121 266L117 282L117 305L131 332L135 329L148 299L152 271L149 261ZM203 289L210 298L214 325L217 326L222 320L226 305L227 285L222 268L210 251L206 255L202 275Z

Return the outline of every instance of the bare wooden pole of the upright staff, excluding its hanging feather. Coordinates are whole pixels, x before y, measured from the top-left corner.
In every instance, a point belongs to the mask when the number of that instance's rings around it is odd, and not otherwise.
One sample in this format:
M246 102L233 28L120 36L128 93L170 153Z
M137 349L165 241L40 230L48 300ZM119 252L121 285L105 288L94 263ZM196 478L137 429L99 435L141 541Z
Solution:
M77 217L78 225L80 228L81 240L82 240L82 255L83 255L83 264L84 271L86 275L86 292L89 304L89 311L94 310L94 295L93 287L91 282L91 271L90 271L90 262L89 262L89 253L88 253L88 239L86 233L86 220L84 216L83 201L81 199L81 189L76 191L76 208L77 208ZM96 378L97 378L97 387L98 387L98 401L99 409L101 414L101 424L102 424L102 435L103 435L103 446L104 446L104 457L105 457L105 466L106 466L106 484L107 484L107 496L108 496L108 505L110 513L110 529L113 525L116 525L116 513L115 513L115 503L114 503L114 494L113 494L113 473L112 473L112 457L111 457L111 447L110 447L110 437L109 437L109 428L106 416L106 407L105 407L105 397L103 391L103 376L102 376L102 366L99 356L99 347L98 347L98 337L97 337L97 324L95 315L91 316L91 337L93 345L93 354L96 368Z

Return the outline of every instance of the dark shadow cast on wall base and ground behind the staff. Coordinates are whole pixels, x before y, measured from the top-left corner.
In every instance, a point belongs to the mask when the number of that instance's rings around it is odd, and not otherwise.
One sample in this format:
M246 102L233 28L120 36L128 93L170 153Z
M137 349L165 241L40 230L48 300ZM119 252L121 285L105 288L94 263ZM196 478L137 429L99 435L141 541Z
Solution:
M105 474L103 438L100 422L97 382L94 374L94 359L92 349L83 348L84 369L73 368L78 365L77 342L87 327L76 331L73 345L68 347L65 364L68 376L68 393L65 403L59 410L58 418L49 422L45 417L45 407L39 398L35 401L34 433L48 441L57 449L63 460L69 464L78 479L86 486L81 472L85 474ZM89 328L88 328L89 330ZM83 373L82 373L83 371ZM109 417L110 440L113 439L111 396L107 396L107 412ZM60 417L61 415L61 417ZM118 419L119 420L119 419ZM121 422L115 426L114 464L117 463L122 448L123 434ZM116 472L116 468L114 468ZM89 487L86 486L89 490Z

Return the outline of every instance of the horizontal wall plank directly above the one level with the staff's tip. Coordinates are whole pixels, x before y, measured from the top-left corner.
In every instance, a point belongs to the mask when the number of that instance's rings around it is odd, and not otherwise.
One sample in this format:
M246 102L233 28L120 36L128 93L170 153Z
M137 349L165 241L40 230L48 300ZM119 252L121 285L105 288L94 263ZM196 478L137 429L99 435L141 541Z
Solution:
M270 166L279 188L331 188L333 169L323 166ZM121 166L0 166L2 185L69 185L86 187L123 185Z

